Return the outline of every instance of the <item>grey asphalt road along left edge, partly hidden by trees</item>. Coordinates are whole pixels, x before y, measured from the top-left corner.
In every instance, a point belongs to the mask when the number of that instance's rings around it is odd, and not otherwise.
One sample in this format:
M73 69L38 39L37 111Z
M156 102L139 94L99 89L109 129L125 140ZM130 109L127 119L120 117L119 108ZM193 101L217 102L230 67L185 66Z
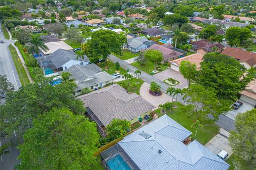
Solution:
M9 50L9 45L14 41L4 38L0 23L0 39L2 38L4 39L4 43L0 43L0 75L6 75L7 79L13 84L15 90L18 90L18 88L21 87L21 83ZM4 99L0 99L0 104L4 104L4 102ZM0 145L7 142L6 139L0 139L0 141ZM1 170L12 170L14 169L14 166L19 163L17 160L19 154L18 149L10 147L7 150L10 153L2 156L0 160Z

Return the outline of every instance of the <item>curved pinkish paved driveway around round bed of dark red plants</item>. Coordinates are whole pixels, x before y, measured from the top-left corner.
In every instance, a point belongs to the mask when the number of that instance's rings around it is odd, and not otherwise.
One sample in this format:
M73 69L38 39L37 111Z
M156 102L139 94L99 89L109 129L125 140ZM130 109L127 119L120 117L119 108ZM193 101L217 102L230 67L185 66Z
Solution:
M166 102L172 102L172 98L163 93L161 96L151 95L149 91L150 85L148 83L143 83L140 87L140 96L147 100L149 103L153 104L157 109L160 104L164 104Z

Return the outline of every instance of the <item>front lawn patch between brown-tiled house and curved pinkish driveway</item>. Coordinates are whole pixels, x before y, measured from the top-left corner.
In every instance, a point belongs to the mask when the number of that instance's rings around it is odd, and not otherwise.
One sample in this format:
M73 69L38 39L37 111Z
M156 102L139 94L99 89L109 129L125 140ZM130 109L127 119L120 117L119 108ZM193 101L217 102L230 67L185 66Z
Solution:
M125 86L123 85L124 82L126 82L127 84L129 84L128 88L126 89ZM138 82L138 84L137 84ZM131 80L123 80L120 82L117 82L117 84L121 85L122 87L124 87L128 92L130 93L137 93L140 95L140 87L141 85L144 83L144 81L142 79L137 79L137 78L133 78ZM133 86L134 84L134 86ZM135 86L136 85L136 86Z

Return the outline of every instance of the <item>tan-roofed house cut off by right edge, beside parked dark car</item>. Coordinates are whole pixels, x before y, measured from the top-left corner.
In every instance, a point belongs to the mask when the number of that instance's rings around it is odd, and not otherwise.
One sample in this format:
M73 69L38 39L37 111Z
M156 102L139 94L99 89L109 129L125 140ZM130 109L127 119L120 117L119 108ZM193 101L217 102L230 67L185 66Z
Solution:
M256 80L253 80L250 84L245 87L245 90L240 92L241 98L239 100L256 106Z

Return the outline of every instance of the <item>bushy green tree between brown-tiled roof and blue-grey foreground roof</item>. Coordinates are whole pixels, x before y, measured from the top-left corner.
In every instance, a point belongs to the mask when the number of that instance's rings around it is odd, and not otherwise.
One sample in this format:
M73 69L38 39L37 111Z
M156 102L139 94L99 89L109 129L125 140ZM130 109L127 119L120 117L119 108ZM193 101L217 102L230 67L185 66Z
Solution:
M107 138L113 141L131 131L131 122L121 119L113 119L107 125Z

